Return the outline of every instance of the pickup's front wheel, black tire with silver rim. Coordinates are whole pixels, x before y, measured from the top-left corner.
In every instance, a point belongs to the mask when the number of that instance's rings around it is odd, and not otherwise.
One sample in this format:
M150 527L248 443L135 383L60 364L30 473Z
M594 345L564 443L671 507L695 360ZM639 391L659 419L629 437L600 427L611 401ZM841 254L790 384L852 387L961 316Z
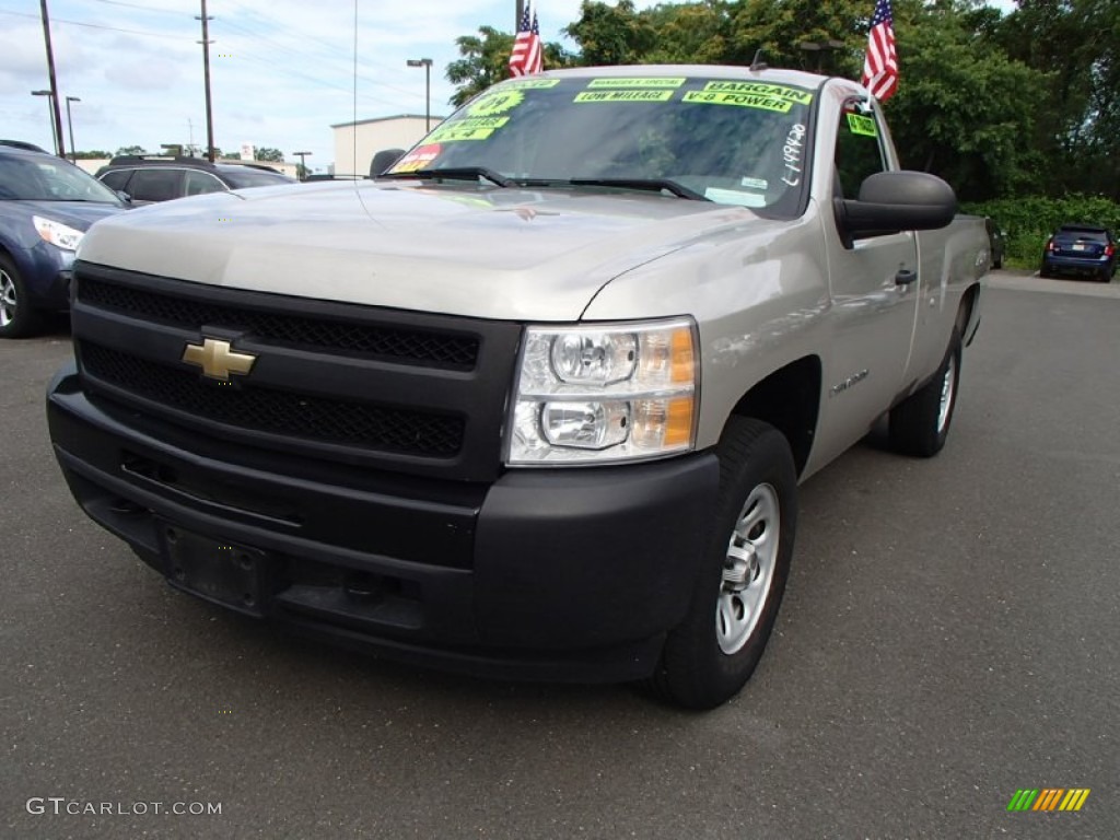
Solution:
M796 532L797 474L785 436L732 418L717 451L711 539L689 613L669 634L650 681L689 709L715 708L750 679L782 604Z

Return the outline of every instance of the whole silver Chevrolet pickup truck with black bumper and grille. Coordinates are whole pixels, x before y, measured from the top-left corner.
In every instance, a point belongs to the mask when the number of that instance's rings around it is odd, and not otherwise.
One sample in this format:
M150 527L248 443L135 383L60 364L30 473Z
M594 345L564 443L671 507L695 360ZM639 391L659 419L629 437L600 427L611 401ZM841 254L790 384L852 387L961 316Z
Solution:
M709 708L763 654L799 482L885 413L945 442L988 262L955 212L852 82L508 81L372 180L99 222L55 452L211 601Z

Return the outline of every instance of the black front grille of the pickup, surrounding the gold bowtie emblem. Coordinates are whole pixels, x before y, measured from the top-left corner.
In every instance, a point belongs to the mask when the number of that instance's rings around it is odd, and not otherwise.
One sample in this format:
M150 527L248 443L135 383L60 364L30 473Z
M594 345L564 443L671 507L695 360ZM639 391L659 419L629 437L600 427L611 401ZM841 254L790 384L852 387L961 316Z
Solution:
M71 307L83 389L146 429L209 446L491 482L517 324L214 287L78 261ZM329 279L321 281L325 288ZM204 338L252 354L220 384L184 362ZM159 433L150 432L150 433ZM203 441L200 441L202 444Z

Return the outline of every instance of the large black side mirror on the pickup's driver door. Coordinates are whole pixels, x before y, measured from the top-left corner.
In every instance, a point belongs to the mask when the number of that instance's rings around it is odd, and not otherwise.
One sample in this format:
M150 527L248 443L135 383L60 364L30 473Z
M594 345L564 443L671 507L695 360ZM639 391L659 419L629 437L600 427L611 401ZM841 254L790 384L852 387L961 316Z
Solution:
M832 203L846 248L869 236L945 227L956 215L953 188L928 172L876 172L860 185L859 198Z

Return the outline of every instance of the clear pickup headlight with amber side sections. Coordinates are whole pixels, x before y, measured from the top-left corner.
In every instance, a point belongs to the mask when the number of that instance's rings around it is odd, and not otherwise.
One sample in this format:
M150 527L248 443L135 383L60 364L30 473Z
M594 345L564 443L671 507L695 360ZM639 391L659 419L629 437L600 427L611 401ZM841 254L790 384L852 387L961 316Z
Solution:
M688 451L694 442L696 325L529 327L517 367L506 463L610 463Z

